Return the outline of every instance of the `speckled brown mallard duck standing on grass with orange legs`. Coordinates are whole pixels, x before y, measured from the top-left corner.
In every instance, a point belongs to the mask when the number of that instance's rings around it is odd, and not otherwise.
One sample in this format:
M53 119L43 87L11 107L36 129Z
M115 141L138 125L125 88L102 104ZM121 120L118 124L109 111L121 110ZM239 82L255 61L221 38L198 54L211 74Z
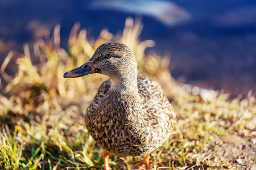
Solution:
M89 134L104 150L104 169L109 169L109 154L145 156L133 167L150 169L150 153L170 137L175 123L174 109L162 87L138 76L135 56L121 42L100 45L88 62L67 71L64 78L93 73L110 77L85 113Z

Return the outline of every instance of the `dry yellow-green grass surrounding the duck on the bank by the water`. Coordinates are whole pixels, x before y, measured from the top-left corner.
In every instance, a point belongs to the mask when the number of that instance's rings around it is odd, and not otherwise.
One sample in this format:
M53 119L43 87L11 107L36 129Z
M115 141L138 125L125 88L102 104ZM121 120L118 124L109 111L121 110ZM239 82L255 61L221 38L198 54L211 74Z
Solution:
M228 94L203 99L192 95L171 77L168 59L144 49L154 41L140 41L142 24L127 19L122 35L102 30L96 40L88 40L86 30L75 24L68 41L68 52L60 48L60 26L52 37L24 45L24 54L11 51L1 66L7 86L0 94L0 168L1 169L102 169L102 150L85 128L83 114L108 79L88 75L64 79L63 73L82 65L108 41L120 41L133 50L139 73L157 80L176 112L174 133L151 154L152 169L236 168L229 158L220 158L222 137L238 134L256 136L255 98L250 91L245 99L230 100ZM150 62L158 65L150 65ZM7 66L15 65L14 76ZM112 169L129 169L142 158L110 156Z

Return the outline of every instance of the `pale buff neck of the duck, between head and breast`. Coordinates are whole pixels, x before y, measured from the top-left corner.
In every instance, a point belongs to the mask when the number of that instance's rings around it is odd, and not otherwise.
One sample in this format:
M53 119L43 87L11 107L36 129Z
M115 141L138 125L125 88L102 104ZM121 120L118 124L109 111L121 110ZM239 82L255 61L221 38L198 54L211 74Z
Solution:
M122 93L133 92L138 94L137 69L124 76L111 77L111 89Z

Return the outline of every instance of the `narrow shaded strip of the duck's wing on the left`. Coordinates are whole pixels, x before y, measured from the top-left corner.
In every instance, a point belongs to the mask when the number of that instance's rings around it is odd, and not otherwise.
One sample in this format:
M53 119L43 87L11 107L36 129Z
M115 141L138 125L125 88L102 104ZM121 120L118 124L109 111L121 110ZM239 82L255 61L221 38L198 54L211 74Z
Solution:
M111 86L110 79L106 80L104 83L101 84L101 86L98 88L97 94L94 96L94 99L90 103L89 107L86 109L85 119L89 113L93 113L95 111L95 109L98 107L98 104L100 104L101 99L103 99L103 97L109 91L110 86Z

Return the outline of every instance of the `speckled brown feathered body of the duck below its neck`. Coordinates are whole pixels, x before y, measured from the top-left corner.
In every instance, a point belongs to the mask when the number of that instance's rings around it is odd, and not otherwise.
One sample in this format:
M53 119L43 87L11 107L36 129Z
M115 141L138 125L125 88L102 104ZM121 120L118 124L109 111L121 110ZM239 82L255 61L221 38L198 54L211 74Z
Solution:
M170 137L175 113L157 82L138 76L138 93L110 87L110 79L101 84L85 114L89 134L105 151L146 155Z

